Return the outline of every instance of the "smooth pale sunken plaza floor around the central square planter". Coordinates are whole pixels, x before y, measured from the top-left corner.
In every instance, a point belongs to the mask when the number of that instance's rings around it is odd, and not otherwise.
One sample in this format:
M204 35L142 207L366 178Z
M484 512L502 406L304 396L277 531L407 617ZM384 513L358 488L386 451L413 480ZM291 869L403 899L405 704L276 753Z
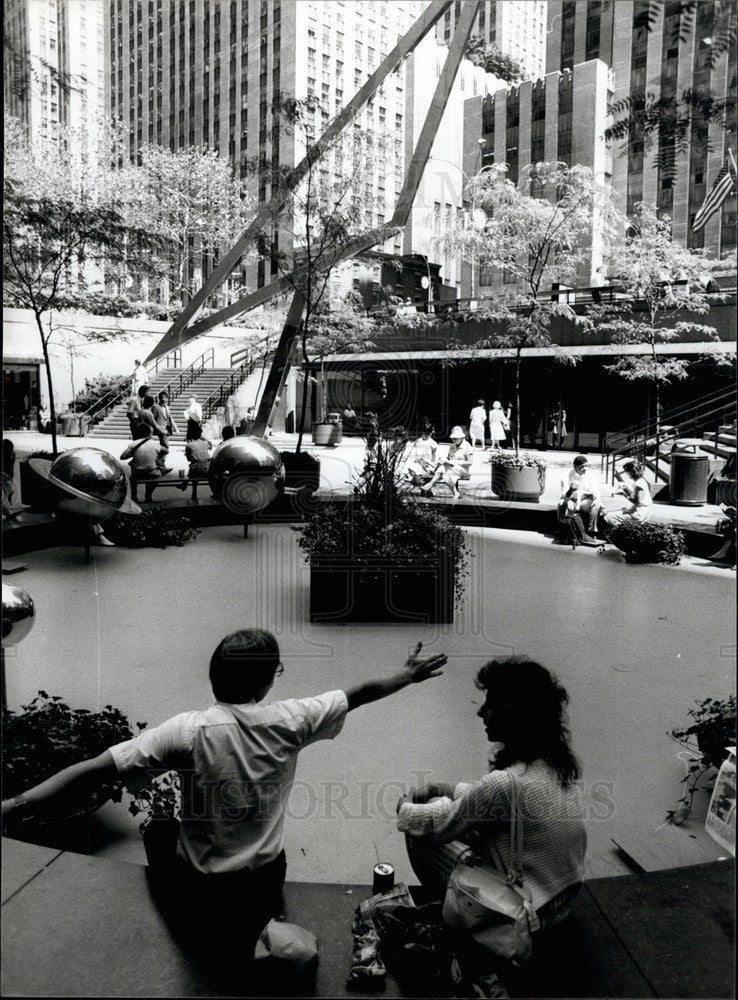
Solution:
M248 540L238 527L207 528L181 549L93 549L87 566L78 549L26 553L13 582L37 615L8 650L9 706L43 689L155 725L211 702L210 654L238 627L277 634L285 672L276 699L397 669L420 639L426 652L448 653L444 675L351 713L337 741L306 750L286 827L292 881L366 883L378 857L409 879L398 796L419 782L484 773L475 673L495 655L525 653L571 696L588 877L623 873L613 840L658 846L681 793L685 764L667 731L688 721L696 699L733 689L734 575L706 560L629 566L617 552L574 552L534 532L466 531L466 594L442 627L310 625L308 568L288 525L259 524ZM701 828L705 801L697 805L688 824L669 828L678 843L664 867L720 856ZM93 822L96 853L143 862L124 805L105 806Z

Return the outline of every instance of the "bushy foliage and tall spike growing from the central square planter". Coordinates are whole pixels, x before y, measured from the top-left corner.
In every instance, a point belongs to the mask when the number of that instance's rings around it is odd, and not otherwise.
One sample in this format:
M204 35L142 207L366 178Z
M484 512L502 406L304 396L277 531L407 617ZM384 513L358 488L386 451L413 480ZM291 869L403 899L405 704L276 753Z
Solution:
M468 571L464 533L435 506L418 503L399 481L400 444L406 436L398 430L391 435L380 432L375 447L368 450L352 502L342 510L332 504L315 510L298 529L298 544L308 562L332 555L350 554L360 561L446 553L455 571L458 602Z

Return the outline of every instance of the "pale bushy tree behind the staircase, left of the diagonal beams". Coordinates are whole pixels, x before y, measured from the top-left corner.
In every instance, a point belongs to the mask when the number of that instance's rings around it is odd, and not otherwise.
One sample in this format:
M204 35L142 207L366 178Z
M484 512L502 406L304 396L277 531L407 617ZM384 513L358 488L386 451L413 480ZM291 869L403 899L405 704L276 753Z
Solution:
M148 230L160 237L166 249L158 270L169 297L184 303L201 284L194 261L200 261L203 276L212 270L249 221L252 199L229 161L207 146L175 151L142 146L139 164L123 176L126 219L131 225L145 219ZM126 276L124 267L120 278ZM231 288L234 295L239 290Z

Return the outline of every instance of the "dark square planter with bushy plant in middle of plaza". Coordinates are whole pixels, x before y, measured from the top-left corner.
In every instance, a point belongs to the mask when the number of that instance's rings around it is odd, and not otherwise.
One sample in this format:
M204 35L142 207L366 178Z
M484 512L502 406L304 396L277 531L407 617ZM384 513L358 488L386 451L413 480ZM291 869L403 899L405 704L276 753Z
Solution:
M310 620L453 621L468 549L460 528L398 482L401 449L380 433L351 500L321 504L300 531L310 564Z

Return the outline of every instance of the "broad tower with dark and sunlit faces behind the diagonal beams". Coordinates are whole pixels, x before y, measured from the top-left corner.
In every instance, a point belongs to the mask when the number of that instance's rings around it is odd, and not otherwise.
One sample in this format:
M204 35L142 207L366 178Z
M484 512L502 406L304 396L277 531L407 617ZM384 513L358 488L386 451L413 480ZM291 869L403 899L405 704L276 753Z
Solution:
M208 145L227 155L258 202L269 172L302 155L288 130L273 129L279 92L315 95L308 122L318 136L426 6L425 0L107 0L108 109L129 131L130 153L144 143L177 149ZM361 191L367 225L390 214L405 165L406 68L391 74L359 117L391 151ZM270 165L261 174L247 161ZM335 168L327 159L325 168ZM384 249L399 252L398 237ZM276 263L247 265L261 287Z

